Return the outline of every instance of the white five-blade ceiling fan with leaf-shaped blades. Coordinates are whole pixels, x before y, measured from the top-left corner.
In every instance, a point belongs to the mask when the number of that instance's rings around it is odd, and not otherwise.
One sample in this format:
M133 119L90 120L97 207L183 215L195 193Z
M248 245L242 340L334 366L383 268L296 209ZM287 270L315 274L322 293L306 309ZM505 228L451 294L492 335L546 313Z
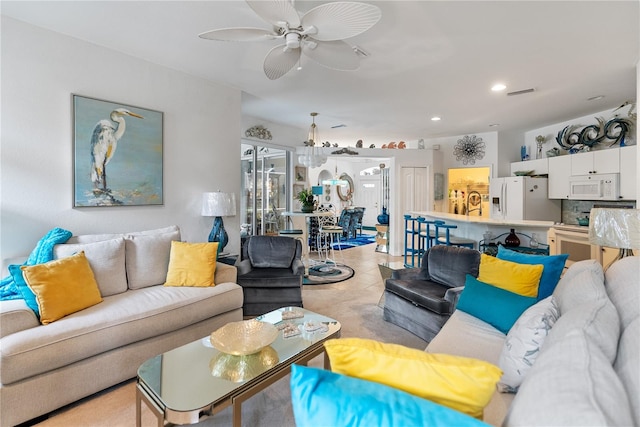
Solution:
M284 76L299 63L302 53L320 65L341 71L356 70L360 58L343 40L373 27L382 16L380 8L366 3L334 2L317 6L302 16L294 0L246 0L253 11L269 24L262 28L222 28L206 31L203 39L262 41L283 39L264 58L264 73L271 80Z

